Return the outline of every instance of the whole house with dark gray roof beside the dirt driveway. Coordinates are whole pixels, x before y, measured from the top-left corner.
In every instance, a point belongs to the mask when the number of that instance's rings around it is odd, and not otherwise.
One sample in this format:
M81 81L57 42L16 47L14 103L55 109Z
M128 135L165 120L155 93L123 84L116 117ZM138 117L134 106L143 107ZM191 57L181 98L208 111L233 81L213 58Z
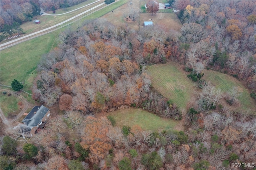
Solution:
M44 127L50 114L50 109L47 107L35 106L22 120L23 124L20 127L32 137L38 128Z

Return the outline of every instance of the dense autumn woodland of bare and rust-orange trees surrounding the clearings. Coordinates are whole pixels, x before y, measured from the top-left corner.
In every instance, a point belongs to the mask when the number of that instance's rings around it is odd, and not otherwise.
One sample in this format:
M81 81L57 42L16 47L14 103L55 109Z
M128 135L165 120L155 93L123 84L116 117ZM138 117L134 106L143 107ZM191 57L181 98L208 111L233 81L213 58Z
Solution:
M60 34L58 47L42 56L32 97L58 105L64 115L50 117L33 138L18 134L24 144L4 132L1 168L229 170L235 169L231 163L256 163L255 115L221 107L222 92L200 81L202 92L182 114L154 90L146 73L146 65L177 62L198 81L203 69L213 69L242 81L256 99L255 2L172 6L180 9L180 32L157 25L136 31L98 18ZM230 105L238 102L236 92L234 87L225 96ZM182 119L184 131L121 128L113 117L92 116L123 107Z

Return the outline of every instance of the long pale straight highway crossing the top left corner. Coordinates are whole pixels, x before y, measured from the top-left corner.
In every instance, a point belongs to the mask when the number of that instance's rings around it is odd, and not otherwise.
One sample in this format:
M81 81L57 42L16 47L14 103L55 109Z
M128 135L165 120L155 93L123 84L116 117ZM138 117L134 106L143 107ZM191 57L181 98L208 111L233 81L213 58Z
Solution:
M115 1L115 2L116 2L116 1ZM51 26L51 27L49 27L49 28L45 28L44 30L40 30L40 31L38 31L38 32L34 32L34 33L29 34L29 35L26 35L26 36L22 36L22 37L20 37L20 38L17 38L17 39L15 39L15 40L10 41L10 42L2 43L2 44L0 45L0 50L5 49L6 46L9 45L9 44L15 43L15 42L20 41L20 40L22 40L22 39L24 39L24 38L28 38L28 37L34 36L34 35L36 35L36 34L40 34L40 33L42 33L42 32L45 32L45 31L47 31L47 30L50 30L50 29L52 29L52 28L55 28L55 27L57 27L57 26L60 26L60 25L62 25L62 24L64 24L64 23L69 22L69 21L71 21L71 20L77 18L78 16L81 16L81 15L87 13L87 12L90 12L91 10L94 10L95 8L98 8L99 6L102 6L102 5L104 5L104 4L105 4L105 3L103 2L103 3L101 3L101 4L97 5L97 6L92 7L90 10L86 10L86 11L80 13L80 14L77 14L76 16L73 16L73 17L69 18L68 20L65 20L65 21L63 21L63 22L60 22L59 24L56 24L56 25ZM112 4L113 4L113 3L112 3ZM89 5L90 5L90 4L89 4ZM9 47L9 46L7 46L7 47Z

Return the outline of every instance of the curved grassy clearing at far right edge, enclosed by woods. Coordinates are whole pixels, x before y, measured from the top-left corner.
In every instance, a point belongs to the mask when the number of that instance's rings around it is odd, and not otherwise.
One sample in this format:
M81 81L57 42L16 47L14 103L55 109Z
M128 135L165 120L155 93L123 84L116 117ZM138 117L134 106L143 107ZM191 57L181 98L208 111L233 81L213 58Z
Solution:
M240 93L238 100L242 109L250 109L252 113L256 114L256 102L250 97L250 93L244 85L236 78L216 71L204 70L204 77L202 77L202 79L211 82L212 85L219 88L224 93L228 93L233 87L238 87Z

